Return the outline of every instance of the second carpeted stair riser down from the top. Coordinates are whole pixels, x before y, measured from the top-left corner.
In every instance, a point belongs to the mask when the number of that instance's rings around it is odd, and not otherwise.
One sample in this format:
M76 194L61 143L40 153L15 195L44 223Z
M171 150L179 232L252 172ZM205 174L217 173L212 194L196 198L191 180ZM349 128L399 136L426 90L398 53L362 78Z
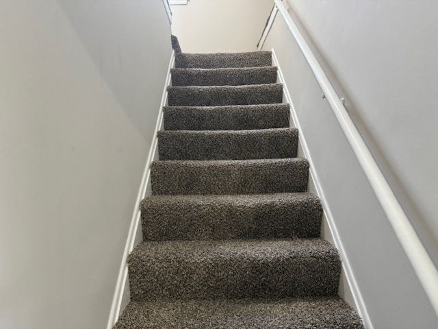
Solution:
M276 67L220 70L172 70L172 86L275 84Z

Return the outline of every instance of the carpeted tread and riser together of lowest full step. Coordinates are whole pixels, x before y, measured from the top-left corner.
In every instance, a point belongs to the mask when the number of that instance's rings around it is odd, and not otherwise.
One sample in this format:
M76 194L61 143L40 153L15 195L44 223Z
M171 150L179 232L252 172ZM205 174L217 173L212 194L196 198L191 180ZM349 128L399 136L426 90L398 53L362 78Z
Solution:
M322 239L148 241L128 264L138 301L335 295L341 271Z

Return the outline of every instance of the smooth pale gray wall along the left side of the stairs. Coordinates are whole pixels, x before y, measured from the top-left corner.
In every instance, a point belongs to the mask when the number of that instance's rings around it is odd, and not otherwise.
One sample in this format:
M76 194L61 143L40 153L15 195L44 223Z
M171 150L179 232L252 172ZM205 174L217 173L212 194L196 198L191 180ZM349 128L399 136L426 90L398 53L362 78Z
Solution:
M0 328L104 328L170 59L162 0L0 1Z

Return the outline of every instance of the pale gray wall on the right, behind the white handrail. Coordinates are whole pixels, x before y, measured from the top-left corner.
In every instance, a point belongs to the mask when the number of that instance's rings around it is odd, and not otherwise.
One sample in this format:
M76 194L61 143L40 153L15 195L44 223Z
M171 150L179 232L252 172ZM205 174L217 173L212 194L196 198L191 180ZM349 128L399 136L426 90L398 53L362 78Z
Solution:
M438 3L294 0L289 6L436 261ZM263 49L271 47L374 328L438 328L394 231L280 15Z

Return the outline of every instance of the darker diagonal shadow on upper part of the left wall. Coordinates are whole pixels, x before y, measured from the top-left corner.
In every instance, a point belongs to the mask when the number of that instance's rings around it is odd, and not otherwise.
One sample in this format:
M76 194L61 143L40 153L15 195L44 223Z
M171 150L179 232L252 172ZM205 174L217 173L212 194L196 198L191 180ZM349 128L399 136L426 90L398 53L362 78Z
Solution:
M112 6L88 0L57 2L99 70L102 84L110 87L133 126L149 140L147 113L158 113L168 65L168 60L158 65L152 56L170 59L171 52L170 24L162 0L149 1L150 10L160 14L151 15L153 21L144 24L147 29L138 26L138 22L145 20L144 3L139 1L129 1L129 5L125 1L112 1ZM163 40L168 40L165 49ZM159 79L151 79L151 76ZM157 100L153 107L144 108L151 99Z

